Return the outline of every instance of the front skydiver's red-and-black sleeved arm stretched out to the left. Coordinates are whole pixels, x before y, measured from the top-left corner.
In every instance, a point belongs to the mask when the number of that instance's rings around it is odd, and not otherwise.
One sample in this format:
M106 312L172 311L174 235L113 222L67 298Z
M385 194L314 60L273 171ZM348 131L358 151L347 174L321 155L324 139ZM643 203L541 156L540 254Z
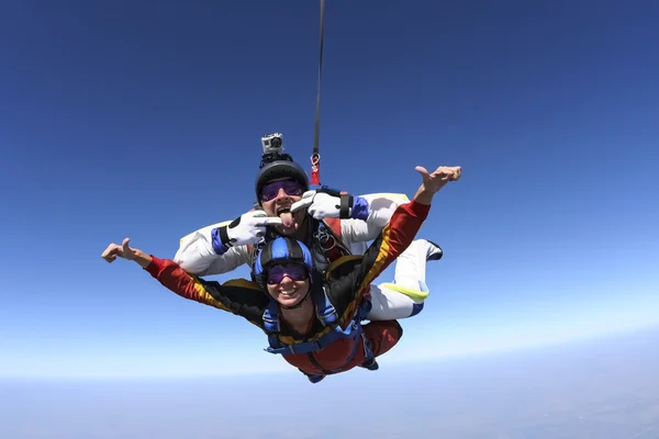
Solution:
M261 315L268 297L254 282L244 279L231 280L224 284L205 281L188 274L178 263L160 259L129 246L130 238L122 245L111 244L101 255L108 262L116 258L133 260L168 290L190 301L239 315L263 327Z

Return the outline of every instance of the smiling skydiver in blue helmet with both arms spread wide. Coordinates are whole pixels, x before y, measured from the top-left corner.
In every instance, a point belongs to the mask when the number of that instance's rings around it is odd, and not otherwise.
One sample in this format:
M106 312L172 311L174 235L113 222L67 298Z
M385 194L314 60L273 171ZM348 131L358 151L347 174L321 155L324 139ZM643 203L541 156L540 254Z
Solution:
M427 243L413 239L433 196L461 176L460 167L439 167L432 173L422 167L416 170L423 183L413 200L395 209L362 257L335 261L326 275L314 268L306 245L291 237L277 237L258 250L255 282L205 281L172 260L130 248L129 238L111 244L102 257L109 262L116 257L134 260L178 295L246 318L268 336L267 351L282 354L312 383L356 367L376 370L376 358L395 346L403 331L396 320L362 325L370 307L370 282L407 247Z

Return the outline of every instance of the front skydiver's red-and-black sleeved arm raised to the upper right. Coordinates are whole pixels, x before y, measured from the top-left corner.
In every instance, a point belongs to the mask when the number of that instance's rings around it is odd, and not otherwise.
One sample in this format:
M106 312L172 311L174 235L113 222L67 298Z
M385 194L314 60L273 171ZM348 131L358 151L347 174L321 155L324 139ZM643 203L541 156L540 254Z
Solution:
M423 183L413 200L396 207L389 224L366 250L360 262L331 282L330 291L336 303L346 304L342 313L344 323L354 316L370 283L412 244L427 217L435 193L461 176L460 167L439 167L433 173L423 167L416 167L416 170L422 175Z

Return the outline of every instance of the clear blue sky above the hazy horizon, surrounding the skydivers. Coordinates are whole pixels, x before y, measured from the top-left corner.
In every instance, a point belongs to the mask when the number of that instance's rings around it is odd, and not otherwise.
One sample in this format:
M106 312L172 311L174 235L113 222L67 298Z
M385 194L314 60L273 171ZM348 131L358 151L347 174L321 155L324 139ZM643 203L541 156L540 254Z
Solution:
M445 250L432 295L386 362L659 323L658 20L328 2L323 183L412 196L416 165L462 166L420 235ZM0 7L0 375L289 370L252 325L100 254L130 236L170 258L248 210L265 133L309 168L317 21L316 1Z

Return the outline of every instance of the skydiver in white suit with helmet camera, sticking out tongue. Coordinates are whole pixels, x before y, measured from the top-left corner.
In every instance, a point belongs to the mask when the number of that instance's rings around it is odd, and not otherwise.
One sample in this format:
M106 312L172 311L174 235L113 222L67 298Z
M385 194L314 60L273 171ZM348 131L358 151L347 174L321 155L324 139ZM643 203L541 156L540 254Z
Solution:
M406 195L395 193L351 196L327 188L310 190L304 170L283 153L280 133L264 136L261 145L255 210L182 238L174 260L188 273L223 274L243 264L254 272L258 250L278 236L302 241L310 249L315 268L324 272L340 257L364 255L367 243L378 236L394 210L409 201ZM442 248L429 245L431 259L440 259ZM413 246L401 259L407 263L396 264L393 282L371 286L370 320L406 318L423 309L429 291L425 282L415 281L418 275L409 262L418 259L417 250L425 261L425 249ZM421 270L425 278L425 263Z

